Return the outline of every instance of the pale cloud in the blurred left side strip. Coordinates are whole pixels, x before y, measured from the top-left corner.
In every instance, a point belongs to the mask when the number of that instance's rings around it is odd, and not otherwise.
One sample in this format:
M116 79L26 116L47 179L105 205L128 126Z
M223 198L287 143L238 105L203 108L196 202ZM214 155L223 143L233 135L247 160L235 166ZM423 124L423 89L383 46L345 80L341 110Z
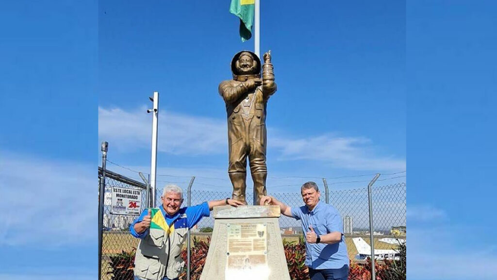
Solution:
M94 241L95 168L1 152L0 245L50 247Z

